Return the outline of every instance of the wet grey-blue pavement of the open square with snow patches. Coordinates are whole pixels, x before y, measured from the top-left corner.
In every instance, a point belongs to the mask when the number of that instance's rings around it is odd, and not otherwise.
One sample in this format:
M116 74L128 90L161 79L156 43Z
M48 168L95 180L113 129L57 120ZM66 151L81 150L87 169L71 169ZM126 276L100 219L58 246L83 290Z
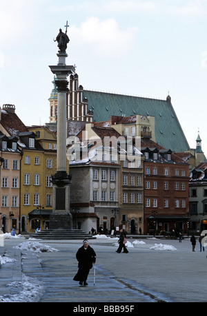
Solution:
M0 302L206 302L207 248L195 252L190 240L140 239L144 244L116 253L117 240L90 240L97 253L88 286L72 280L77 273L75 254L80 240L35 240L59 251L35 253L15 249L25 238L5 240L0 255L14 258L0 266ZM133 240L130 240L132 242ZM175 251L152 250L155 244ZM29 279L27 279L27 277ZM9 285L8 285L9 284Z

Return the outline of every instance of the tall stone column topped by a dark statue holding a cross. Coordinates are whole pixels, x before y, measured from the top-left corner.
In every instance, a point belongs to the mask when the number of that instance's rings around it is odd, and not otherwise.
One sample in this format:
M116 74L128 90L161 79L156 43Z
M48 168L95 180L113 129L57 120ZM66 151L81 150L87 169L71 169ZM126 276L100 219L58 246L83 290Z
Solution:
M52 176L53 207L50 215L50 229L72 229L72 215L70 214L70 182L71 177L66 169L66 98L68 90L68 75L75 72L74 66L66 65L66 48L69 43L66 33L59 30L55 41L58 42L59 52L57 65L49 66L57 79L57 172Z

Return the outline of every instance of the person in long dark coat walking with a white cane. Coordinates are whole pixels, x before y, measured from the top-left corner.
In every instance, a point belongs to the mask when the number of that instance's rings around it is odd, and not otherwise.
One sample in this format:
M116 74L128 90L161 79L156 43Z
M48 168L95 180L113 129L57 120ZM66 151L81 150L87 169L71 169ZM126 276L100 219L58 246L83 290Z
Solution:
M92 268L92 264L96 262L96 253L88 244L88 240L83 240L83 246L79 248L76 254L77 261L79 262L79 270L73 280L79 281L80 285L88 285L86 282L88 273Z

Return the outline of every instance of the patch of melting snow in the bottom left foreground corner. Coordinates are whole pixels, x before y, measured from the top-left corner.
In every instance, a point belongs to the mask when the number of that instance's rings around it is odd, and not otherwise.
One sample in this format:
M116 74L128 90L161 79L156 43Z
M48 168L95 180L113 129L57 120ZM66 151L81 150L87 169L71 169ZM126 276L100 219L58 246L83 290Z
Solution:
M44 289L42 282L24 274L21 282L12 282L7 286L18 288L19 291L14 295L0 296L0 302L38 302Z

